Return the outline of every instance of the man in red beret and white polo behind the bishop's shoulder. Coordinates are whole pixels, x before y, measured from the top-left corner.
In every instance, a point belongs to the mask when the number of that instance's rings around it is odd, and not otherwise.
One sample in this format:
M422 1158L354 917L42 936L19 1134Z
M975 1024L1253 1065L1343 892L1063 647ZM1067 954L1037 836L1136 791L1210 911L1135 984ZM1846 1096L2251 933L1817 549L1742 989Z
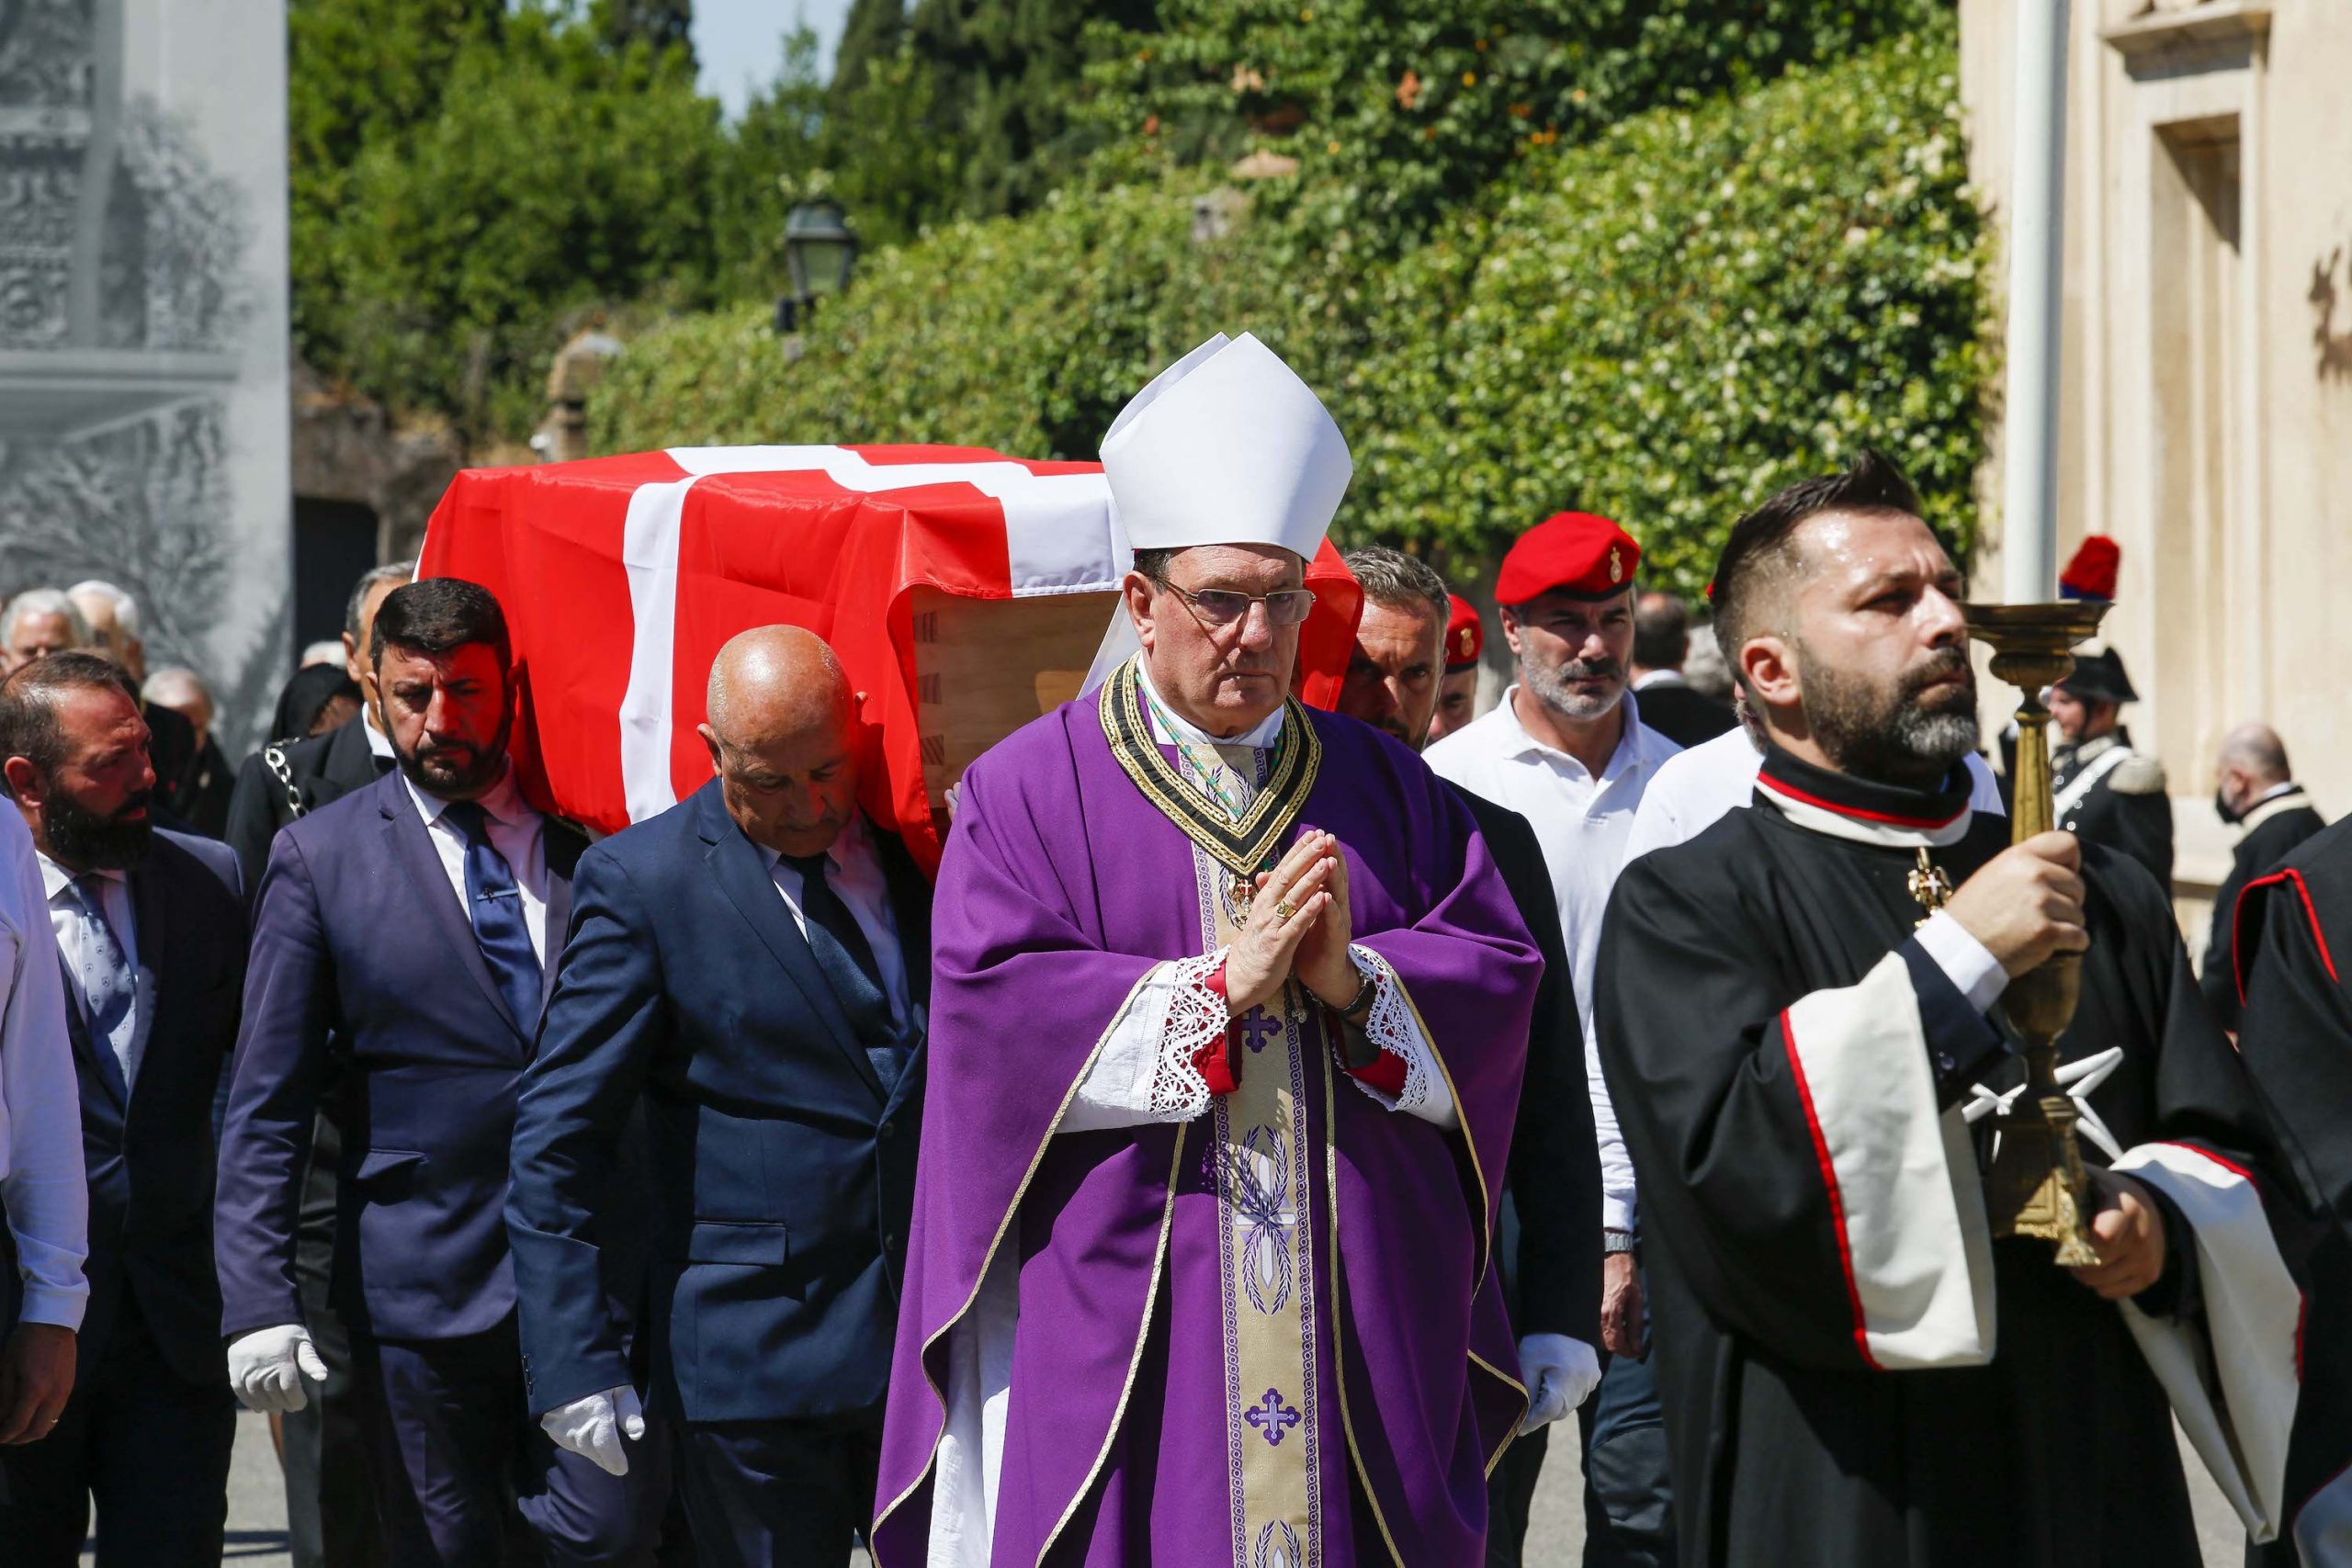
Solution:
M1625 860L1642 792L1675 743L1642 724L1628 686L1632 585L1642 545L1590 512L1536 524L1503 557L1496 602L1519 679L1494 712L1425 752L1430 769L1524 816L1559 898L1585 1032L1585 1077L1602 1157L1602 1347L1611 1352L1585 1427L1585 1563L1675 1559L1658 1385L1646 1363L1635 1258L1632 1161L1592 1048L1592 964L1602 912Z

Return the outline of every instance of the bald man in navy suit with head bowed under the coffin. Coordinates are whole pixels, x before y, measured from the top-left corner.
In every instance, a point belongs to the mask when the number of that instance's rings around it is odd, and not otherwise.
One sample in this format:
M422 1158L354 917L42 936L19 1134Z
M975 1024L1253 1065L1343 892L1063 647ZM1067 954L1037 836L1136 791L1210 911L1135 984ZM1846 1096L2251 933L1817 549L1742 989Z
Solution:
M717 778L579 863L515 1121L532 1408L635 1472L652 1443L595 1288L600 1173L652 1128L647 1403L682 1418L706 1568L840 1568L875 1495L922 1121L931 891L856 809L833 651L762 628L710 670Z

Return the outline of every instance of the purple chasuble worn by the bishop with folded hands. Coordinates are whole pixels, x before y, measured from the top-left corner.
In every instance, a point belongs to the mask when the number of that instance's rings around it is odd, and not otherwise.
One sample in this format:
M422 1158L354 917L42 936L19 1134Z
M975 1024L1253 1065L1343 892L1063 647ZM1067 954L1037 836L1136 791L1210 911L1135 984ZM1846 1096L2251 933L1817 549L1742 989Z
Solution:
M1298 1011L1315 1387L1235 1408L1216 1112L1056 1135L1145 973L1204 952L1192 842L1122 771L1094 698L981 757L938 875L880 1568L927 1561L950 1338L1000 1258L1018 1326L990 1563L1232 1561L1228 1453L1251 1434L1312 1441L1319 1540L1291 1568L1484 1559L1486 1472L1526 1408L1489 1241L1543 959L1418 757L1291 712L1324 752L1282 846L1338 835L1355 943L1402 980L1461 1128L1371 1100L1322 1011ZM1279 1056L1247 1044L1244 1084Z

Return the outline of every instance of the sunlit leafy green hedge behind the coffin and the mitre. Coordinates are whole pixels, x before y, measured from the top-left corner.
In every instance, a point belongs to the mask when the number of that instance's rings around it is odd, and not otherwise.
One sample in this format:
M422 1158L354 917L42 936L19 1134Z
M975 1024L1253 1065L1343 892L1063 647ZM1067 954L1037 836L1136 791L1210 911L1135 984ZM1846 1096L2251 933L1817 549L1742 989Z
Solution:
M861 263L797 362L757 308L666 324L590 414L607 451L934 440L1094 456L1150 371L1247 327L1355 447L1345 534L1468 574L1581 505L1623 517L1696 588L1745 505L1865 442L1966 541L1987 367L1962 181L1955 45L1936 24L1536 150L1402 261L1298 221L1294 193L1261 188L1258 216L1195 244L1174 176L1063 190Z

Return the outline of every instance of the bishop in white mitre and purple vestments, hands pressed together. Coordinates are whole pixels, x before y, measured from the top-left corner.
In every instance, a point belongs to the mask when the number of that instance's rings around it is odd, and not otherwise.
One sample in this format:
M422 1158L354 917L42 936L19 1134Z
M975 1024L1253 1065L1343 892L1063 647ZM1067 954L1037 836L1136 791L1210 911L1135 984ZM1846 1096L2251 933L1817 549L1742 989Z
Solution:
M1472 1563L1541 959L1461 799L1289 698L1352 473L1251 336L1103 440L1138 654L981 757L875 1561Z

